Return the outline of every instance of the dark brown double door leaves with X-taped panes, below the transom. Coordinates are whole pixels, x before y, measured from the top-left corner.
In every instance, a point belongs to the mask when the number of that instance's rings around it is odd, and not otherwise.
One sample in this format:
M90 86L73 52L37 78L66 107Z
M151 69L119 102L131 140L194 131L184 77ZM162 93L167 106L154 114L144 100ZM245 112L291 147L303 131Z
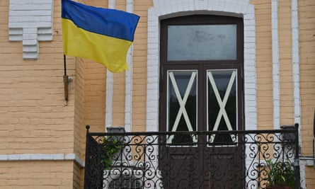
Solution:
M244 147L220 133L243 129L242 69L164 69L160 131L173 132L160 147L164 188L244 188Z

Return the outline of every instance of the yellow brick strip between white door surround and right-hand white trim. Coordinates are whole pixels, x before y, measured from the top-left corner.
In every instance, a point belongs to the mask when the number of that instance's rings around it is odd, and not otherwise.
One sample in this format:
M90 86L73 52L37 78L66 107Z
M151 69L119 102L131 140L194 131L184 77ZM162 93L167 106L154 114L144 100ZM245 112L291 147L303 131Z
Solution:
M251 1L256 13L256 69L258 129L273 129L273 59L271 1Z

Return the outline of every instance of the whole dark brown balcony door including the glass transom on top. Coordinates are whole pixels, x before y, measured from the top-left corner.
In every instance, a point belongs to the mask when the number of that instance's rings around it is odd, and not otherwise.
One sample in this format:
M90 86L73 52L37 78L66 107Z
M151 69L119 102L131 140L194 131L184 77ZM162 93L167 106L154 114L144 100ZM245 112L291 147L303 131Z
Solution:
M244 25L196 14L161 21L159 145L164 188L244 188ZM233 133L234 132L234 133Z

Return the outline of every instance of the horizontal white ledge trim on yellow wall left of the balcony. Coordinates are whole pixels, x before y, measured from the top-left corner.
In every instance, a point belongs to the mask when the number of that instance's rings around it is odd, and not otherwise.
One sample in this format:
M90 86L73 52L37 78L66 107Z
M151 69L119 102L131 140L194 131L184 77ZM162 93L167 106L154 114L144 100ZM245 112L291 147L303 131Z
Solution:
M0 161L74 161L81 168L85 166L76 154L0 154Z

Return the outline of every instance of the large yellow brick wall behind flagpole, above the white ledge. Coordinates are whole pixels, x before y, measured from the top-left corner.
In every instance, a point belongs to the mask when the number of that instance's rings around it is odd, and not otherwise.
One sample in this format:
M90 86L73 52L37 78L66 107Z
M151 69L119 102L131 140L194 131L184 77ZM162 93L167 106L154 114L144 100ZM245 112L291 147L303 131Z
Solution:
M55 3L54 40L38 59L23 59L22 42L8 41L8 1L0 2L0 154L72 153L74 90L64 104L62 33ZM74 59L68 74L74 76Z

